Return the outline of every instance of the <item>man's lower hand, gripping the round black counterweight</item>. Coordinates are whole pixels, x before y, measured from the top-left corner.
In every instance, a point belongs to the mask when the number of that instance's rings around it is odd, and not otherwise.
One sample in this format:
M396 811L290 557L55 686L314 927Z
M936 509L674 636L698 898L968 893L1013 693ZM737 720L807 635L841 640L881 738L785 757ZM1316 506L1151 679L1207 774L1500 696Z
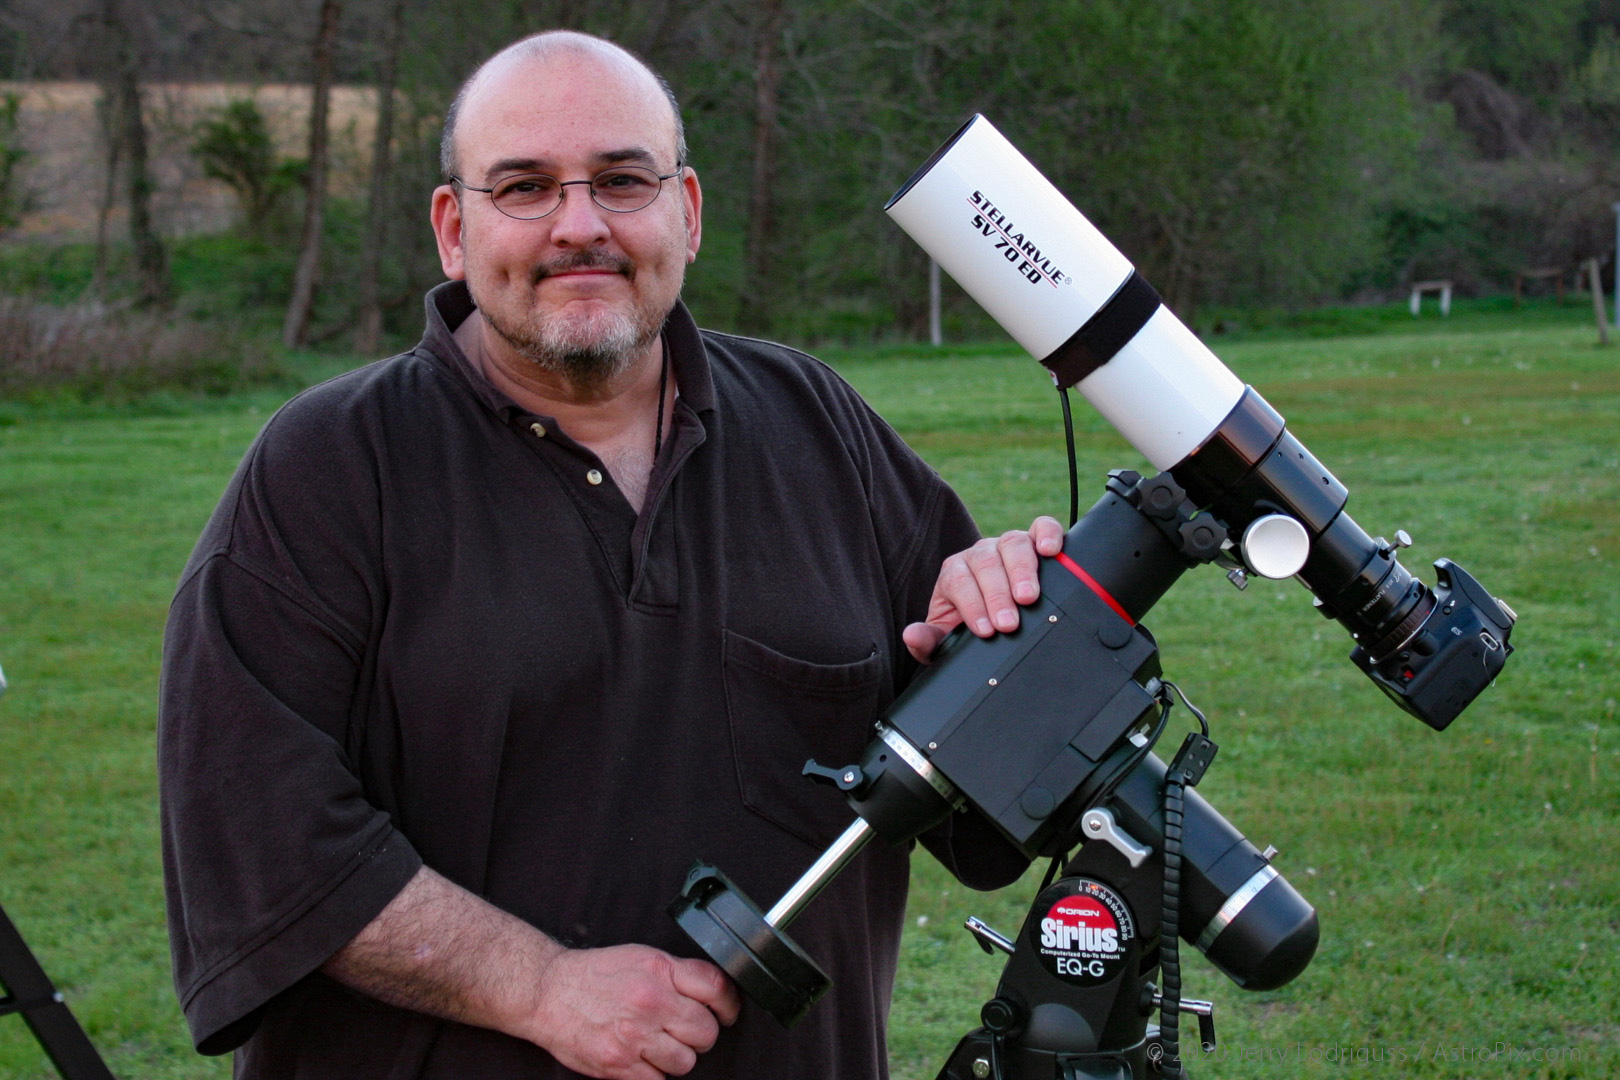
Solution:
M690 1072L740 1004L703 960L646 946L570 949L546 963L530 1038L588 1077L663 1080Z

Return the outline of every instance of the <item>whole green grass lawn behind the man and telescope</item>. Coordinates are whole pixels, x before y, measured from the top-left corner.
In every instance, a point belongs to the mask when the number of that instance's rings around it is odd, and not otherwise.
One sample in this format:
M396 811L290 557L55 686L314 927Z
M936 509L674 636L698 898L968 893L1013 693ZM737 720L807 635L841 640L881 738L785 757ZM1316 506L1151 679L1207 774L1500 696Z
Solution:
M1152 612L1166 672L1221 745L1199 790L1281 850L1322 915L1315 963L1280 991L1244 994L1186 950L1186 993L1218 1002L1223 1040L1196 1075L1620 1072L1620 348L1581 319L1217 340L1369 533L1408 529L1411 570L1432 581L1448 555L1521 622L1500 683L1435 733L1367 683L1293 583L1238 593L1204 570ZM1064 512L1058 408L1027 356L829 359L985 529ZM154 701L175 576L274 405L0 411L0 904L122 1077L228 1072L190 1051L168 989ZM1108 468L1142 463L1084 402L1076 418L1089 505ZM915 860L897 1077L933 1077L993 993L1000 965L961 920L1011 934L1032 895L1034 881L970 894ZM0 1077L50 1075L0 1018Z

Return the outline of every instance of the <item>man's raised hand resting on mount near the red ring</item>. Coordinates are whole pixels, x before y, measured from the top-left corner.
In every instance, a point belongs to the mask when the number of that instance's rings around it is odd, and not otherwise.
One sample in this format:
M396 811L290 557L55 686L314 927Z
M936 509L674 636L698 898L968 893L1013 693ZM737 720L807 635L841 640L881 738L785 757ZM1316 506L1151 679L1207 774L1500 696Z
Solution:
M957 625L980 638L1017 630L1019 604L1040 597L1040 557L1063 551L1063 526L1038 517L1029 531L985 538L944 560L928 617L906 627L906 648L923 664Z

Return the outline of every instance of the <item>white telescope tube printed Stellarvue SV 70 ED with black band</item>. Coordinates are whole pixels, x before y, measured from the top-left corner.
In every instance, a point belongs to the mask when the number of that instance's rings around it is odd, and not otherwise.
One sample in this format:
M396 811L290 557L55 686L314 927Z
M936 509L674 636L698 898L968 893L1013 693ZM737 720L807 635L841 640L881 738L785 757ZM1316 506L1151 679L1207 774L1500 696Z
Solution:
M983 117L962 125L885 210L1035 359L1100 359L1079 379L1081 393L1153 468L1197 450L1243 397L1226 364ZM1132 304L1145 322L1121 316ZM1118 351L1098 351L1110 322L1129 337Z

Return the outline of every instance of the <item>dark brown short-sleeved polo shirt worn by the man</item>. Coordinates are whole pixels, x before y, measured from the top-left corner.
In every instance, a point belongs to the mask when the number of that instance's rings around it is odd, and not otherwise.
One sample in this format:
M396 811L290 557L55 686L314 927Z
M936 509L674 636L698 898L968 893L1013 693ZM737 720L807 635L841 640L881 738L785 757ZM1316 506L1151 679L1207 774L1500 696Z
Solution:
M572 1075L318 968L423 861L572 946L695 955L664 913L688 865L768 905L852 819L800 766L857 758L912 674L901 628L975 539L834 372L680 306L637 515L471 369L470 311L439 287L415 350L271 419L170 612L175 981L240 1077ZM967 832L982 884L1017 873ZM747 1006L692 1075L883 1077L906 881L907 852L863 852L792 929L833 991L791 1031Z

